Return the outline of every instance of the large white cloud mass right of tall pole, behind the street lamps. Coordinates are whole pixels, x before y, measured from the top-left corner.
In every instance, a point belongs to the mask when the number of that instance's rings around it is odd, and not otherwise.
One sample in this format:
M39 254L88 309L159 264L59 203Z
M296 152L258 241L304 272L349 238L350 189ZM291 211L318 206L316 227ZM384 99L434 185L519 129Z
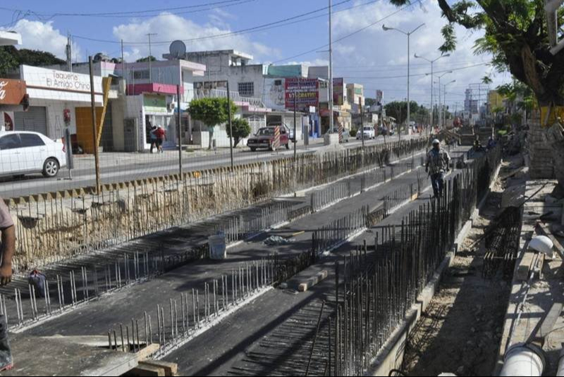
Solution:
M361 4L360 1L356 3ZM370 6L360 6L340 12L333 18L335 39L355 32L361 27L366 27L376 20L383 20L397 11L398 8L389 4L388 1L379 1ZM369 97L374 97L376 89L382 89L386 101L404 99L407 97L407 37L396 31L386 32L382 29L382 25L396 27L407 32L422 23L425 23L425 26L411 36L410 97L428 106L431 97L431 78L425 73L430 73L431 65L422 59L414 58L414 55L419 54L429 59L441 55L438 48L443 43L441 28L445 25L446 20L441 17L441 9L436 0L424 0L423 6L414 4L386 18L381 23L353 37L346 38L343 42L338 42L334 48L336 77L345 76L346 82L364 84L365 92ZM434 65L435 72L454 70L453 73L441 79L441 84L456 80L447 87L446 91L447 102L450 103L450 106L464 101L462 94L469 84L479 83L485 75L491 73L491 68L488 66L459 69L489 62L491 57L474 55L474 41L477 37L482 36L483 32L469 32L460 26L456 27L456 32L458 37L456 51L449 58L442 58ZM385 78L391 76L399 77ZM504 76L498 75L492 78L494 84L491 87L496 87L503 81ZM436 96L437 89L435 89L435 101Z

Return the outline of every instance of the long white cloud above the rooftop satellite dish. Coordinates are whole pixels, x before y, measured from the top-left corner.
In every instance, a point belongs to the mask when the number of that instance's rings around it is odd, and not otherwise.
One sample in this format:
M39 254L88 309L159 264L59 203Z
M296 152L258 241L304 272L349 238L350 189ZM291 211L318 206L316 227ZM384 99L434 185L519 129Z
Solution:
M133 20L130 23L114 27L114 36L127 42L147 42L148 33L157 33L152 37L154 42L172 41L175 39L195 39L231 32L227 23L224 22L224 14L216 13L210 18L210 22L199 25L192 20L179 16L163 13L160 16L148 20ZM221 38L207 38L197 41L186 41L188 51L205 51L215 49L236 49L255 56L259 61L273 56L280 56L280 51L264 44L253 42L246 35L231 35ZM149 55L148 45L142 44L137 47L127 47L127 60L134 60ZM162 54L168 53L168 43L154 43L152 45L153 56L160 58Z

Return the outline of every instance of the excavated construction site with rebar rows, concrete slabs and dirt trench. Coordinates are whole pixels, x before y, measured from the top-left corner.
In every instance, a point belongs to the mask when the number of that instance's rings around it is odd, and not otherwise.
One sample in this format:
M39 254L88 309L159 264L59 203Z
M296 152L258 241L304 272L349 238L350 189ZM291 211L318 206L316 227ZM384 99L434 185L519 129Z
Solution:
M554 183L458 137L440 199L427 137L11 199L3 374L556 373Z

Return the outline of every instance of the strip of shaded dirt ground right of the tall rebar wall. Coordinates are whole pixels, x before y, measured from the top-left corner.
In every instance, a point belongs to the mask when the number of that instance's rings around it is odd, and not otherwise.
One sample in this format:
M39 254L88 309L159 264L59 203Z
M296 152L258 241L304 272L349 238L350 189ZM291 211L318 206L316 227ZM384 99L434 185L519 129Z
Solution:
M408 340L403 371L408 376L491 376L501 338L510 285L501 278L482 277L484 242L471 248L498 212L501 182L446 271Z

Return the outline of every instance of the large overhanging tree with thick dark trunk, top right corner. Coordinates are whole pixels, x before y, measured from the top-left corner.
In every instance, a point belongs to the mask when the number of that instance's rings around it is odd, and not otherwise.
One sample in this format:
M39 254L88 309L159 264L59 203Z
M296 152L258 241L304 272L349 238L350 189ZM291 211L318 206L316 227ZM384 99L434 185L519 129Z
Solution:
M390 0L405 6L410 0ZM454 25L482 29L477 54L493 54L493 65L532 89L541 106L564 106L564 50L553 55L546 27L544 0L437 0L447 23L442 29L443 53L456 49ZM557 15L564 23L564 11Z

